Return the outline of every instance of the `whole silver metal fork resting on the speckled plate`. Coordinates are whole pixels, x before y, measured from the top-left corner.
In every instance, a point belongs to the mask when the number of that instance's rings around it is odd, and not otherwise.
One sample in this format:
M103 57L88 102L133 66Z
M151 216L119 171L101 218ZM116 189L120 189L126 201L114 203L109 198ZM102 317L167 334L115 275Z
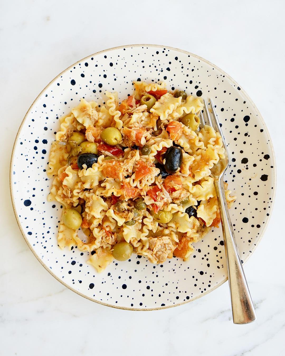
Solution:
M233 322L234 324L247 324L247 323L251 323L256 319L256 314L255 314L252 299L250 297L246 276L244 275L244 271L242 268L242 262L238 255L238 247L236 245L233 227L232 227L231 219L229 217L229 212L228 212L228 207L227 207L227 202L225 197L223 176L226 169L229 166L227 146L211 99L210 99L210 105L213 114L212 119L205 100L204 100L204 111L206 114L207 121L204 120L202 111L200 114L200 119L201 119L201 127L204 127L205 124L207 124L209 126L212 126L215 131L220 133L223 141L223 146L225 148L226 157L224 159L220 159L218 164L216 164L211 169L211 175L214 178L214 185L217 193L218 205L219 205L220 215L221 215L223 239L224 239L225 252L227 257L228 282L229 282L229 289L231 292Z

